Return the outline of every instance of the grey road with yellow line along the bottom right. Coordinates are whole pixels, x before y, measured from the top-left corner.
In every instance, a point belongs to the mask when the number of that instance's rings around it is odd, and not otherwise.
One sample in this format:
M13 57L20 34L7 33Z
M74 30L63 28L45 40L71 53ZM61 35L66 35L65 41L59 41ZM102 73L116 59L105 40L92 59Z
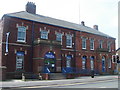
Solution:
M78 79L79 80L79 79ZM68 81L69 82L69 81ZM50 85L37 85L37 86L28 86L28 87L20 87L20 88L12 88L12 89L6 89L6 90L40 90L40 89L44 89L47 88L81 88L80 90L107 90L106 88L109 88L108 90L118 90L118 79L117 78L113 78L113 79L99 79L99 80L95 80L95 79L91 79L89 80L84 80L82 82L79 81L71 81L69 83L61 83L58 84L58 82L54 83L54 84L50 84ZM93 89L94 88L94 89Z

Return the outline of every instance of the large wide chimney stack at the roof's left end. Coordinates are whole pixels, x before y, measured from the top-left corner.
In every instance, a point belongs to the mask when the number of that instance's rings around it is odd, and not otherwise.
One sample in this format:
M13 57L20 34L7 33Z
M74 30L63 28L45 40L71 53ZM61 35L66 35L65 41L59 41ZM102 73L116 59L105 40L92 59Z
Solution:
M26 4L26 11L28 13L36 14L36 5L33 2L28 2Z

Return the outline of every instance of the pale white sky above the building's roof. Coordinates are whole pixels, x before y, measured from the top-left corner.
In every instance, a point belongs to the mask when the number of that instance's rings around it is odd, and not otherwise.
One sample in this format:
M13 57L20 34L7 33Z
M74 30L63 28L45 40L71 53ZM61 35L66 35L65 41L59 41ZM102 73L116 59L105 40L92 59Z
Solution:
M1 0L0 18L4 14L25 11L27 2L36 4L36 13L92 27L116 38L118 48L118 2L120 0Z

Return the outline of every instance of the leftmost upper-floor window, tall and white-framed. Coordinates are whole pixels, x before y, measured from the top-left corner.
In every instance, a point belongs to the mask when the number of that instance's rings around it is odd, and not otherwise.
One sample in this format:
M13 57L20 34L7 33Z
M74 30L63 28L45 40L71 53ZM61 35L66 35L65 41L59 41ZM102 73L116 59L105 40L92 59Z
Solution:
M18 27L17 41L18 42L25 42L26 41L26 27L24 27L24 26Z

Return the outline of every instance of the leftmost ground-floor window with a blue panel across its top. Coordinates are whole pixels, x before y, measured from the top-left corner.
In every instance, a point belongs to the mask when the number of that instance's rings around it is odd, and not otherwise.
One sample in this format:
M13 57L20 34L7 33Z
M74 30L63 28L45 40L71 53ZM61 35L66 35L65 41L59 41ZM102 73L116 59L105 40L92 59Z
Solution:
M16 70L24 69L24 52L16 53Z

